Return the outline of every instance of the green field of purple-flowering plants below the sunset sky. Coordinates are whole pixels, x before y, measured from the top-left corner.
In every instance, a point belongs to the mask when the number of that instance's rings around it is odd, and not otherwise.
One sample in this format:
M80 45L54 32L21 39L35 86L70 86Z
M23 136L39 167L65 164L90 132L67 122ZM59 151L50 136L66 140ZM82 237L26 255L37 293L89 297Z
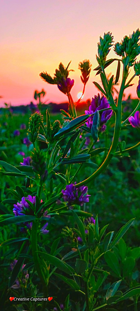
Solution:
M54 77L40 73L66 95L68 109L52 112L42 90L26 113L8 104L0 110L2 311L140 309L139 38L139 30L125 36L109 59L113 36L100 37L101 83L95 77L98 90L84 111L87 59L76 103L70 63ZM138 99L124 100L135 76Z

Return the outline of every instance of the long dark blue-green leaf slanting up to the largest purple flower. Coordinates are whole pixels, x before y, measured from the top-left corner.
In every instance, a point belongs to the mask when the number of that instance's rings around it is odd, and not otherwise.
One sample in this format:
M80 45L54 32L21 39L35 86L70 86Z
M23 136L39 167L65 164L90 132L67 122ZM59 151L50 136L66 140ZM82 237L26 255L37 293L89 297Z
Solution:
M82 125L87 120L88 117L89 117L88 114L84 114L80 117L73 119L72 121L68 123L68 125L65 128L60 128L58 133L56 133L54 137L60 137L63 134L70 132L74 130L75 128L78 128L80 125Z

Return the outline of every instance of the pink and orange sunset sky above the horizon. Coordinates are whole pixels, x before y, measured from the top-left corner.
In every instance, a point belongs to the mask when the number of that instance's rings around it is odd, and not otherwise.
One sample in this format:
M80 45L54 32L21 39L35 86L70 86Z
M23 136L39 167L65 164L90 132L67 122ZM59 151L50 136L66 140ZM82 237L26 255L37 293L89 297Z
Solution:
M0 107L4 102L12 105L29 104L34 101L34 91L46 91L46 103L67 101L67 96L56 85L44 82L39 74L47 71L53 76L60 62L67 66L71 60L69 77L75 83L71 94L77 101L82 91L78 63L85 58L96 61L97 42L100 35L111 31L114 41L121 41L124 35L132 34L139 26L139 1L131 0L5 0L1 2L0 40ZM113 48L108 58L116 57ZM138 58L139 60L139 58ZM116 73L114 62L106 73ZM98 93L92 81L100 81L100 75L91 70L86 85L84 100ZM133 75L130 73L130 77ZM134 85L126 89L137 97Z

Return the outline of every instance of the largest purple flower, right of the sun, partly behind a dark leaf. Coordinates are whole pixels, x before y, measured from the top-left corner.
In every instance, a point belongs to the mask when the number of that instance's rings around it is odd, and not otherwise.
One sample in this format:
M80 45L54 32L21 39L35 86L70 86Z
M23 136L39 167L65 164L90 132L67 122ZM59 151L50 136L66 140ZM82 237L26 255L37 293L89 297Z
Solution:
M98 93L98 96L92 97L91 105L89 106L89 110L85 110L85 114L93 114L97 110L102 110L105 108L110 108L110 104L107 101L107 99L104 97L104 95L100 98L100 94ZM100 131L104 132L105 131L105 126L104 124L111 118L112 110L105 110L100 113ZM93 121L93 116L89 117L87 119L86 125L88 128L92 128L92 121Z

